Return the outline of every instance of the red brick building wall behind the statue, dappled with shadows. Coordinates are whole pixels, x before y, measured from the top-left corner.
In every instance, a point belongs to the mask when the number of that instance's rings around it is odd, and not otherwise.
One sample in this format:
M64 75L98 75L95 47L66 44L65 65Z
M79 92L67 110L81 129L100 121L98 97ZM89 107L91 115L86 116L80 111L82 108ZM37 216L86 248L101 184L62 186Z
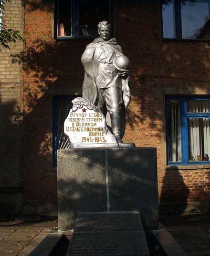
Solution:
M132 99L124 141L158 149L161 202L206 201L210 189L209 166L166 167L164 96L210 93L209 43L162 40L159 1L117 1L114 17L114 33L131 60L132 70ZM51 2L26 3L25 199L28 210L35 207L39 212L56 209L51 99L56 94L81 93L80 57L91 42L82 39L56 42L53 24Z

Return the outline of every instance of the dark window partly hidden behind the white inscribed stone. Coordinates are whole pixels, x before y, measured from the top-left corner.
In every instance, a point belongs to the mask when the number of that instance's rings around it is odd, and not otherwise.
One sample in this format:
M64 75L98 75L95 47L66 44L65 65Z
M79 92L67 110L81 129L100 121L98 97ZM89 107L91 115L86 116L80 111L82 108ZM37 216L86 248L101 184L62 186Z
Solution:
M78 96L79 97L79 96ZM70 147L68 136L64 133L64 121L72 108L75 96L53 97L53 166L57 166L57 149Z

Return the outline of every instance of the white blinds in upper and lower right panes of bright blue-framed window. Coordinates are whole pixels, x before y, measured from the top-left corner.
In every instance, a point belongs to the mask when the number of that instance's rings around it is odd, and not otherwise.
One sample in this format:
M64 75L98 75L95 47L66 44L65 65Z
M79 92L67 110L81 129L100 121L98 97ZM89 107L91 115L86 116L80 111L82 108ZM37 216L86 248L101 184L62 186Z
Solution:
M188 112L210 112L209 100L188 101ZM208 161L210 154L210 118L188 118L189 161Z

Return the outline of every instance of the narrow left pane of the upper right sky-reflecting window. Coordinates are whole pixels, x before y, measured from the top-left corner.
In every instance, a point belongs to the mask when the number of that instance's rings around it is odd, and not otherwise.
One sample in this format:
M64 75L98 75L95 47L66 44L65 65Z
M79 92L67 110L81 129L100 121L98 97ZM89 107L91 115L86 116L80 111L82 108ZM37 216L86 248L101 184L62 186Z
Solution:
M175 38L174 1L162 5L163 37Z

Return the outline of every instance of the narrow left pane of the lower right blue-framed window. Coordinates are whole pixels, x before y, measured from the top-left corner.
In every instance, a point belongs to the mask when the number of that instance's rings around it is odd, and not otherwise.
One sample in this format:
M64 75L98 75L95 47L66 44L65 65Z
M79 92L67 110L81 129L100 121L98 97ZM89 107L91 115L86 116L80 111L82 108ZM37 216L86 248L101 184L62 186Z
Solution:
M181 118L180 118L180 102L177 100L170 100L167 106L168 120L169 120L169 161L181 162Z

